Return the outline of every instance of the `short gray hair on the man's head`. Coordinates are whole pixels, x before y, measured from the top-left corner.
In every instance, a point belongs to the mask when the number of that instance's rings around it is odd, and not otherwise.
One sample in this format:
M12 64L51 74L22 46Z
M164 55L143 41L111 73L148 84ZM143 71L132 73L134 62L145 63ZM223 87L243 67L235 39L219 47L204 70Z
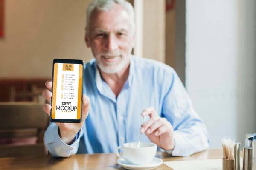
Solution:
M130 17L130 22L131 22L131 27L133 32L135 31L135 14L134 14L134 8L131 6L131 3L127 2L126 0L93 0L93 2L91 2L87 8L86 11L86 31L88 33L89 29L89 24L90 24L90 17L91 17L91 13L94 9L98 9L100 11L108 11L111 8L113 8L113 6L115 4L119 4L120 6L122 6L123 8L125 8L125 10L127 11L129 17Z

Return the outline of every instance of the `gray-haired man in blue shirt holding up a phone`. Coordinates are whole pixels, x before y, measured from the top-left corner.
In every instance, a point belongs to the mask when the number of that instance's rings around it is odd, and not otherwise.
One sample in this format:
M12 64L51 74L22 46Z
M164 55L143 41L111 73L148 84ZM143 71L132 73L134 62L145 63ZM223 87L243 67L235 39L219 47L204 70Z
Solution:
M84 67L83 118L52 123L44 141L53 156L110 153L126 142L154 142L174 156L209 147L207 130L175 71L131 55L134 9L124 0L94 0L87 8L85 42L95 59ZM51 89L52 82L46 82ZM49 90L43 92L51 100ZM44 105L50 113L51 106ZM147 116L141 126L142 116Z

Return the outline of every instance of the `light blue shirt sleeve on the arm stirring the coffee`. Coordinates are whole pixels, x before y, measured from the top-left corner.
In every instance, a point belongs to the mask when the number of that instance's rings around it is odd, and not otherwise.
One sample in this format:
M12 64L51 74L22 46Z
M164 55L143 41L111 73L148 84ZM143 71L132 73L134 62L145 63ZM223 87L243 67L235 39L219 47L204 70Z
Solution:
M163 116L174 129L175 147L173 156L189 156L209 148L207 128L195 112L191 99L182 82L173 71L171 82L163 101Z

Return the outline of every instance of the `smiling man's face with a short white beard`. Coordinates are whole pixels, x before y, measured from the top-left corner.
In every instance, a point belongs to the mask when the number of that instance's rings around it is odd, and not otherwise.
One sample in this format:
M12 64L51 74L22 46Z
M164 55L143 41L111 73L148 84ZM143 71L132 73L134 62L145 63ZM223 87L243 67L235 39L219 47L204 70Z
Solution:
M94 10L85 36L99 68L105 73L117 73L130 62L134 47L134 31L128 13L115 4L109 11Z

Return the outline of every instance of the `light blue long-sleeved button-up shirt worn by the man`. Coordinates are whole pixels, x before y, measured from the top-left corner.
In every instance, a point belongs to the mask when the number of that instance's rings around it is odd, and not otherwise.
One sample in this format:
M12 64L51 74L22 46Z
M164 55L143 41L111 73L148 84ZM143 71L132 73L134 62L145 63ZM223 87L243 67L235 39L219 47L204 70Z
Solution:
M90 111L73 144L65 144L58 126L51 123L44 141L53 156L75 153L113 153L126 142L138 142L141 112L153 107L173 126L173 156L189 156L209 147L206 127L173 68L161 62L131 56L129 76L122 91L115 94L102 80L95 59L84 67L84 94ZM141 142L150 142L143 133Z

